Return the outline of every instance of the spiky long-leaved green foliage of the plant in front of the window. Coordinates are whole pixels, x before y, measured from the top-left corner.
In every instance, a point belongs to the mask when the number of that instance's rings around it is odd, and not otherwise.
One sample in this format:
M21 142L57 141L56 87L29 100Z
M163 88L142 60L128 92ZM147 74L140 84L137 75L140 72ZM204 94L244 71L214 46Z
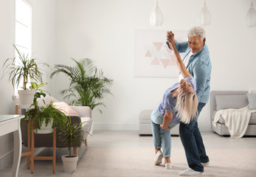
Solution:
M8 80L11 81L13 86L18 87L18 83L23 80L22 88L27 90L27 83L29 80L42 82L43 73L38 69L39 65L49 66L47 63L36 63L35 58L31 58L29 54L21 54L17 47L15 50L18 52L18 58L7 58L4 62L3 75L9 74ZM18 63L16 61L18 60ZM7 71L6 71L7 69Z

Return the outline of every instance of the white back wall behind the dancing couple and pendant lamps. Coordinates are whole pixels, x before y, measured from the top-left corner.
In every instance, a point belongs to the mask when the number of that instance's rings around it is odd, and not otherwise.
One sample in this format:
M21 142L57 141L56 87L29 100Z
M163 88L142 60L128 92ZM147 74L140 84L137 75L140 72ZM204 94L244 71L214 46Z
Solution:
M254 0L256 5L256 1ZM256 89L256 27L246 27L250 0L208 0L212 24L205 27L212 60L212 90ZM91 58L114 80L114 97L106 98L103 114L93 112L95 128L138 128L142 109L155 108L163 91L176 78L134 77L134 30L188 30L197 24L201 0L159 0L164 16L162 27L151 27L154 1L148 0L57 0L57 60L73 65L70 58ZM162 39L165 41L165 38ZM66 77L54 78L52 91L68 86ZM198 120L201 130L210 131L210 105Z

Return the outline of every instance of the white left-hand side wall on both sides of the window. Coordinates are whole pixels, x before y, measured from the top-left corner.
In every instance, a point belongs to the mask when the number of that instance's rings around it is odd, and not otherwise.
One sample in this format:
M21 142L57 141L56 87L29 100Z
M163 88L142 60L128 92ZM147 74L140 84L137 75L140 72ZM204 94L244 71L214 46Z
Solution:
M34 58L51 64L56 58L55 12L56 1L28 0L32 4L32 53ZM0 0L0 75L4 60L13 58L15 40L15 0ZM44 81L48 79L49 69L45 69ZM13 86L7 76L0 79L0 114L15 114ZM47 80L46 80L47 79ZM50 84L48 85L48 88ZM13 133L0 137L0 169L12 162ZM1 176L1 175L0 175Z

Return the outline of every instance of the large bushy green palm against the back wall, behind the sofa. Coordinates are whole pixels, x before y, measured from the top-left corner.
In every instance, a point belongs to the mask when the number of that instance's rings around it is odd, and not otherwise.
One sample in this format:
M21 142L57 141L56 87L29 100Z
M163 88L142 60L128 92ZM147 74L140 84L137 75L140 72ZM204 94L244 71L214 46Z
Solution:
M63 73L69 77L69 89L60 92L64 99L71 100L71 105L89 106L91 110L99 105L105 106L103 98L111 94L110 87L113 80L103 76L103 71L97 69L89 58L83 58L75 61L75 66L55 65L55 70L50 77L55 74ZM100 112L102 112L99 109Z

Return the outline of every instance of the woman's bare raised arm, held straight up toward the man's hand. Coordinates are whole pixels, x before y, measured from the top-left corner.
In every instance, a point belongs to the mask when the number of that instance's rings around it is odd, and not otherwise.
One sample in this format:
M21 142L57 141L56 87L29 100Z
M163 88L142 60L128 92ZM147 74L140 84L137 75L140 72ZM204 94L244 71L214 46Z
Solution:
M182 77L192 77L192 75L187 71L186 66L181 60L181 56L179 55L179 52L176 49L173 32L167 32L167 41L169 42L169 45L173 49L176 65L178 66L179 72L181 72Z

